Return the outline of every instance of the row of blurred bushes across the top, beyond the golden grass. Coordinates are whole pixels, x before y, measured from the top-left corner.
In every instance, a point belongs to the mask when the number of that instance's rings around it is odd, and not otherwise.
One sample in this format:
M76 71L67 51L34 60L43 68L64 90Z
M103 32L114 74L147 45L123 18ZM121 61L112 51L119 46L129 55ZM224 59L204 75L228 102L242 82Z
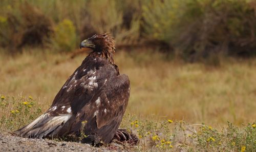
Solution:
M110 32L117 46L167 45L168 52L189 61L256 54L253 0L4 0L0 4L2 47L54 43L50 46L67 51L95 33ZM73 27L63 27L67 19ZM69 40L63 36L68 33L72 33ZM60 35L62 40L54 38Z

